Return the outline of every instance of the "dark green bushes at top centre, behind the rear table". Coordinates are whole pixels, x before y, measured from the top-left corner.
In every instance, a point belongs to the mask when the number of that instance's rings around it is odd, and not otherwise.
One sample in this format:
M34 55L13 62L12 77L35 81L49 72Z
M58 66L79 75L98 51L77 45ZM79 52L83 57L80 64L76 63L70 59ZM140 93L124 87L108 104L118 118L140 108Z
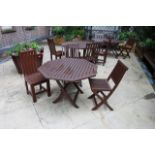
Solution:
M84 27L82 26L54 26L52 27L52 31L54 36L64 37L65 41L77 37L83 39L85 36Z

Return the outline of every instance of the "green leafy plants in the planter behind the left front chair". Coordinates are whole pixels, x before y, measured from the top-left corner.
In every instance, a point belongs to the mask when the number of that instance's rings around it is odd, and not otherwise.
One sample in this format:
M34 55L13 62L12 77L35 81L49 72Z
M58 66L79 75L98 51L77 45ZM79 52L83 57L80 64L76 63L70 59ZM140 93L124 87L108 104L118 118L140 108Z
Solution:
M34 49L36 52L38 52L41 49L41 47L37 42L18 43L8 51L8 55L19 55L20 52L29 49Z

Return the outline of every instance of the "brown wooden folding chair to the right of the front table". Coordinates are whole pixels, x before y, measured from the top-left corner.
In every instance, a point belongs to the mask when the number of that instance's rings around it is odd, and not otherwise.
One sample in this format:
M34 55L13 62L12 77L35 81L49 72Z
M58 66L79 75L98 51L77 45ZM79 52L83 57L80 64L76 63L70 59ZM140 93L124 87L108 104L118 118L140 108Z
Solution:
M96 110L102 104L105 104L110 110L113 110L113 108L107 103L107 100L113 94L127 70L128 68L120 60L118 60L116 66L107 79L89 79L90 88L93 94L88 98L93 98L95 103L92 110ZM110 80L113 81L114 86L110 85ZM101 100L99 103L97 103L96 97Z

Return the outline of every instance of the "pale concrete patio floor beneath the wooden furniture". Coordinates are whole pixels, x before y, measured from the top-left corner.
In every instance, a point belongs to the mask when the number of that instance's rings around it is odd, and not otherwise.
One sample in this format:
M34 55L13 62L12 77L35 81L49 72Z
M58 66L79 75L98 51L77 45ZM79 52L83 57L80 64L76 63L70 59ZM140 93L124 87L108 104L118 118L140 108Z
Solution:
M57 49L61 49L57 46ZM43 62L50 60L48 46L44 45ZM0 128L155 128L155 95L144 71L134 53L130 59L119 58L129 70L120 85L109 98L114 108L110 111L102 105L91 111L93 101L88 80L83 80L82 90L77 99L79 109L67 99L57 104L52 101L60 89L50 80L52 96L37 96L34 104L25 91L24 79L19 75L10 59L0 64ZM117 59L108 57L106 64L98 64L98 78L107 78Z

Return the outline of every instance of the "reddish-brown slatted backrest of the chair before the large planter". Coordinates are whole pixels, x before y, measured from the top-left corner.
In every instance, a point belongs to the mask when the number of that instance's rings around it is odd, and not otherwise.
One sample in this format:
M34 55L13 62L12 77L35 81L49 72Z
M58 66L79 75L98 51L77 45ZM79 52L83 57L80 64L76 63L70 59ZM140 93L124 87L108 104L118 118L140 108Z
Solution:
M38 63L37 53L34 50L21 52L19 59L24 76L37 72L37 68L40 64Z

